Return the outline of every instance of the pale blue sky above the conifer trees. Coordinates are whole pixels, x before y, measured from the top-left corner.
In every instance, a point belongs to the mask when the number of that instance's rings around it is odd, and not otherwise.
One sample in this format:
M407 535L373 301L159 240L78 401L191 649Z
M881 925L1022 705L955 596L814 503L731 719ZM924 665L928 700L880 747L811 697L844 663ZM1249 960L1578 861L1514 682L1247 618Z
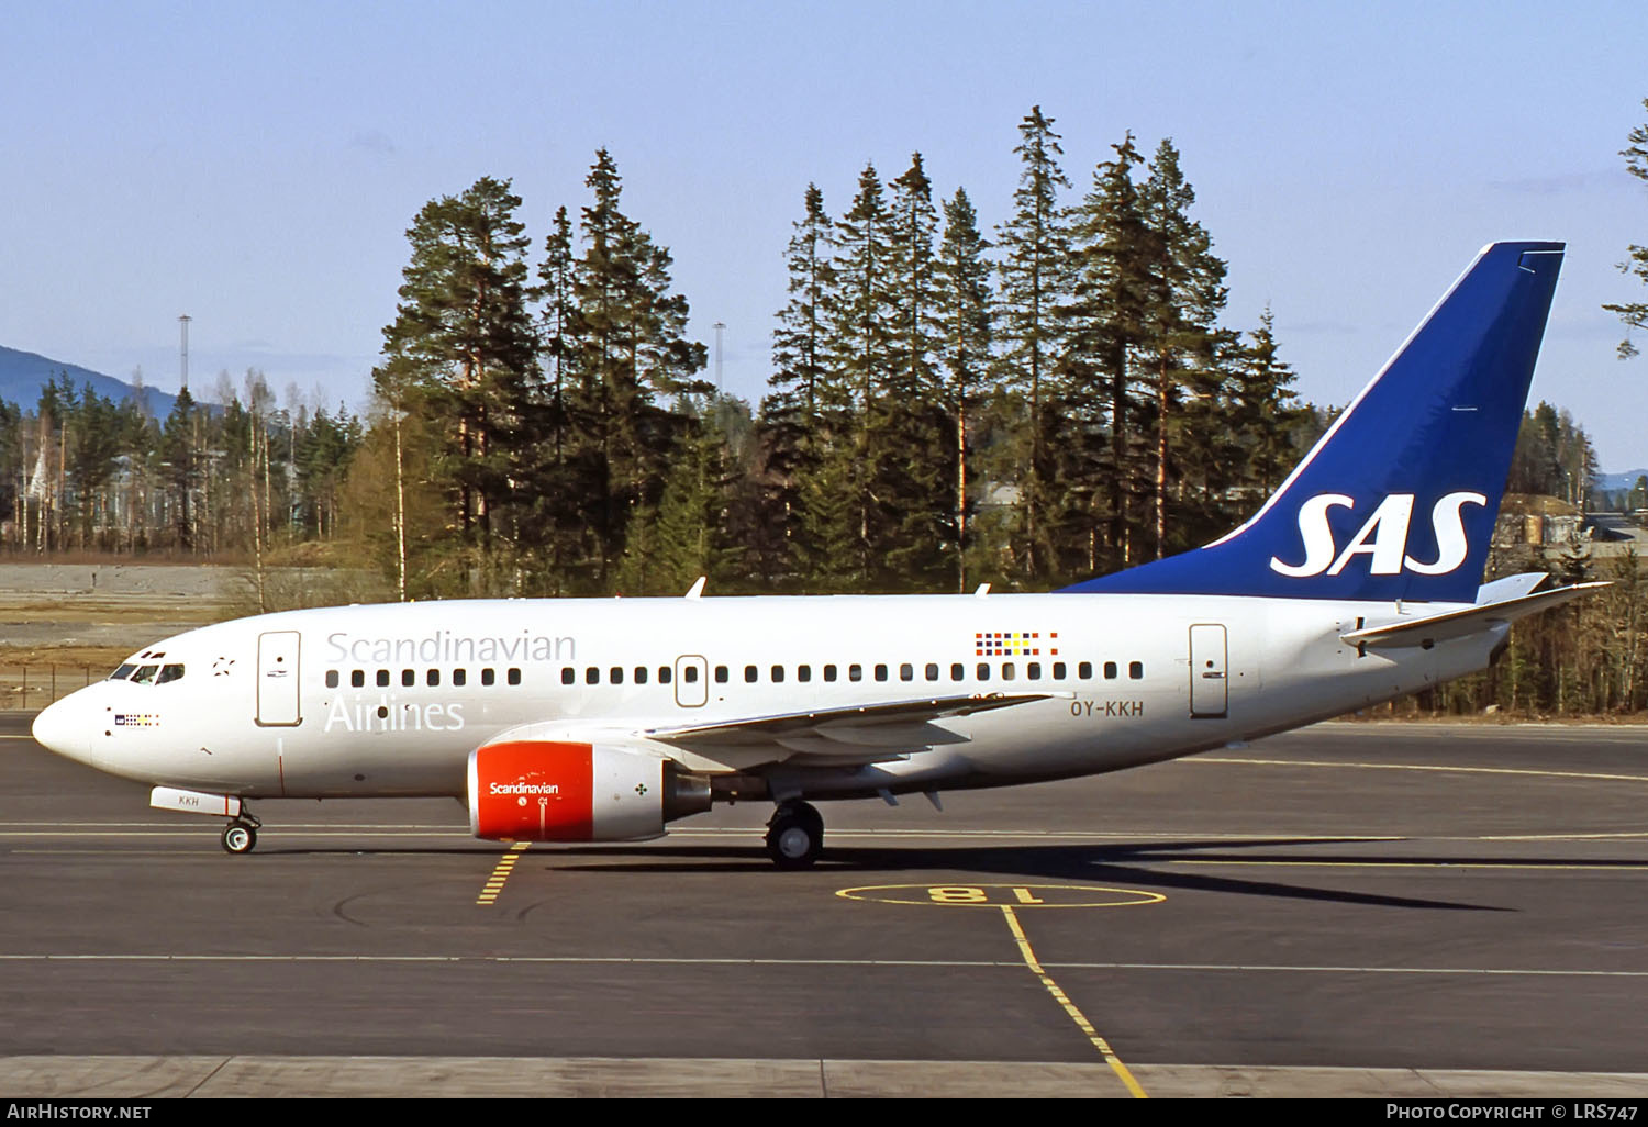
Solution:
M1618 155L1645 58L1640 0L8 0L0 344L175 390L188 313L196 390L255 367L361 409L419 208L509 178L541 259L606 147L753 402L808 183L840 214L865 163L890 181L921 152L994 229L1040 105L1070 203L1126 132L1173 138L1229 264L1224 323L1269 305L1317 404L1483 244L1566 241L1533 397L1620 473L1648 466L1648 356L1615 358L1600 306L1648 300L1617 269L1648 242Z

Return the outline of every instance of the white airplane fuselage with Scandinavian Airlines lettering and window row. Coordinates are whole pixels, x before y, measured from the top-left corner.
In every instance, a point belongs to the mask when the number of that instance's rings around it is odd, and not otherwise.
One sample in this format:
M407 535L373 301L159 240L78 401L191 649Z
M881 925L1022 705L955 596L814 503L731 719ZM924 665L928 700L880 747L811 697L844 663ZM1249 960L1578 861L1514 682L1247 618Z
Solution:
M1447 610L1409 606L1412 613ZM1486 664L1505 628L1358 652L1393 603L1168 595L437 601L264 615L178 634L43 713L53 750L242 797L463 796L468 753L514 732L610 737L809 710L1048 694L933 722L875 763L659 745L798 796L1000 786L1221 746ZM147 656L145 656L147 654ZM158 656L157 656L158 654Z

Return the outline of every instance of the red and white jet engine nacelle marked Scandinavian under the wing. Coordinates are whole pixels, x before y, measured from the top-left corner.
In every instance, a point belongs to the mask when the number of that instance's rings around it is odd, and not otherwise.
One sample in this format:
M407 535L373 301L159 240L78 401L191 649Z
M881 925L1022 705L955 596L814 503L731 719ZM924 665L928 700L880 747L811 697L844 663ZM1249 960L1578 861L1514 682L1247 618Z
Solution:
M709 778L623 746L531 740L470 753L470 832L516 842L621 842L710 807Z

